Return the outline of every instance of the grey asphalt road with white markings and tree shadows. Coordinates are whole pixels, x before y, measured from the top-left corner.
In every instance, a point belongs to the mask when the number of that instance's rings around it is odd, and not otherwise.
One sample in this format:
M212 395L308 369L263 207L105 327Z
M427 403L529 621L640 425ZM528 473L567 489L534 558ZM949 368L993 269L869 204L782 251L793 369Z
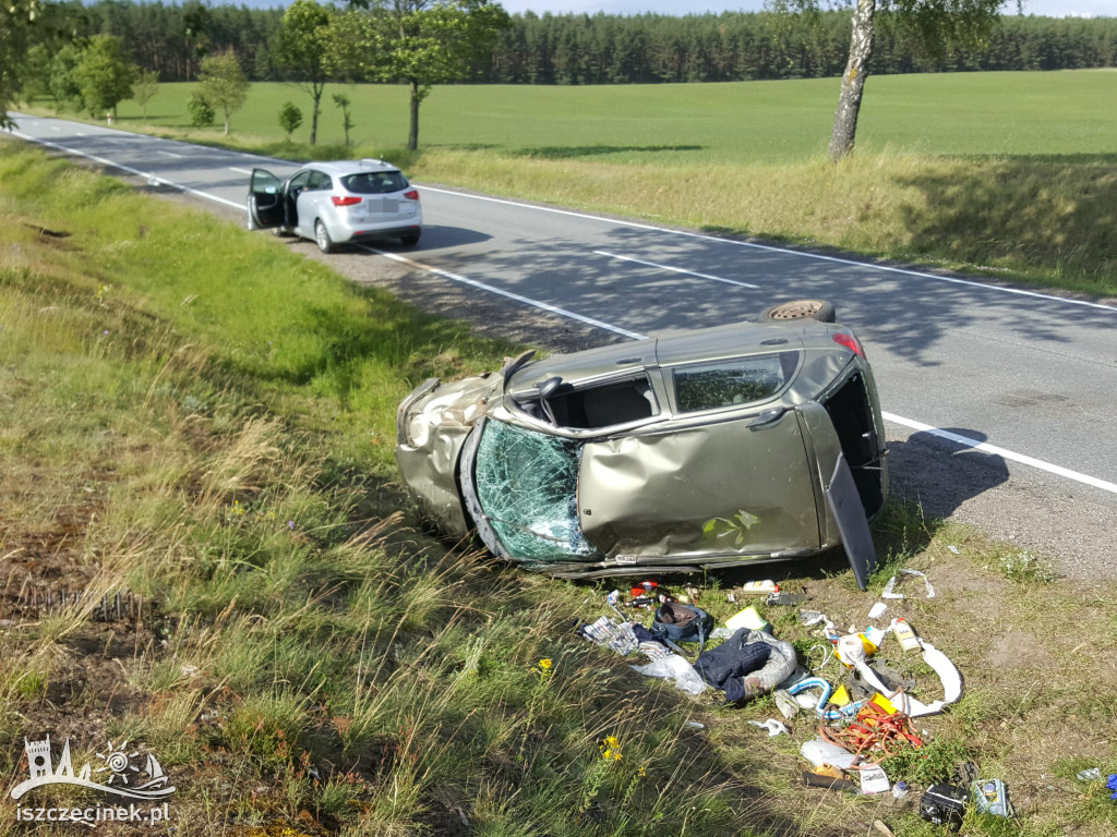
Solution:
M296 167L63 119L17 123L16 136L172 186L230 217L244 217L254 166L279 175ZM787 299L830 299L866 344L900 490L928 513L1057 556L1071 576L1117 578L1117 300L420 186L418 248L327 260L359 281L384 277L404 296L417 283L441 288L443 310L490 330L506 323L508 334L519 324L521 336L535 324L526 334L565 348L733 323ZM548 344L544 324L556 323L567 336Z

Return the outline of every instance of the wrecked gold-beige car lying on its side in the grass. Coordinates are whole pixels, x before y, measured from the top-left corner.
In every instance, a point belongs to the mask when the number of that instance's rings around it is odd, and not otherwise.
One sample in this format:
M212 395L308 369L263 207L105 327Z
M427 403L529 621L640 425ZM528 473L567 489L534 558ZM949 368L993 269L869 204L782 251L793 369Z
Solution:
M829 320L829 321L828 321ZM431 378L397 415L424 518L555 576L688 571L844 543L859 583L887 488L853 331L813 300L757 323Z

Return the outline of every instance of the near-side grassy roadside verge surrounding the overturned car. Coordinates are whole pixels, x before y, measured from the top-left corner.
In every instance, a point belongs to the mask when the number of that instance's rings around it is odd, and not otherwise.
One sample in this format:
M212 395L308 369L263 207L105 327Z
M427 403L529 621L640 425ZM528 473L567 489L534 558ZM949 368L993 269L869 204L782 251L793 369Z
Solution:
M74 739L75 766L106 740L145 742L190 834L813 837L873 818L930 834L910 805L799 787L809 720L768 740L746 722L771 700L690 701L575 638L608 588L408 525L395 403L513 347L21 146L0 144L0 184L4 787L26 771L15 742L50 732ZM961 748L1009 782L1013 834L1111 834L1117 807L1073 773L1117 770L1117 591L1051 583L899 504L878 536L938 589L894 612L967 684L926 721L938 756L892 778L934 778ZM786 571L811 607L863 626L872 599L840 565ZM738 607L731 581L700 584L719 618ZM145 606L104 622L26 595L59 587ZM794 610L767 616L808 662ZM602 757L610 737L622 758ZM4 795L0 833L11 808Z

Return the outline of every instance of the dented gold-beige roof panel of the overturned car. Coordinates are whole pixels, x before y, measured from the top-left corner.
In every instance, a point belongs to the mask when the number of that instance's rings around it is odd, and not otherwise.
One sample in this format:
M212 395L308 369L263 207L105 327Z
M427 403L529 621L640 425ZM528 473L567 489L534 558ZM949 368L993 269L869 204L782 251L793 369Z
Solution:
M753 425L753 426L750 426ZM610 556L762 555L817 548L815 496L793 411L584 445L579 511Z

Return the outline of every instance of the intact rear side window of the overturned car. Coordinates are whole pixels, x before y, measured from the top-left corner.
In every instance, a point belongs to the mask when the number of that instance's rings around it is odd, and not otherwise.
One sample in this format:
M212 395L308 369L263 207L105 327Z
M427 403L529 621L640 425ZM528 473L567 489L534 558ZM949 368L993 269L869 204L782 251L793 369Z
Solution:
M764 401L783 389L798 364L798 352L780 352L678 366L671 373L675 403L695 413Z

